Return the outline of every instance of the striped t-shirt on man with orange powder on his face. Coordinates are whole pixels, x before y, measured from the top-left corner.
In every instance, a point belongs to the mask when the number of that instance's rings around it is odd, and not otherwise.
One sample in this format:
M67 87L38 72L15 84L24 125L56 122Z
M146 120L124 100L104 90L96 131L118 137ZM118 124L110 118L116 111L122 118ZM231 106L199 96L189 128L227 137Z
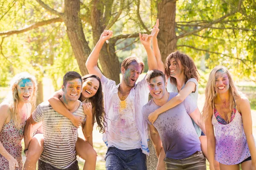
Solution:
M73 112L84 118L83 106ZM48 102L43 102L32 114L35 122L43 122L44 151L40 156L45 161L59 169L65 169L76 161L77 128L71 120L54 111Z

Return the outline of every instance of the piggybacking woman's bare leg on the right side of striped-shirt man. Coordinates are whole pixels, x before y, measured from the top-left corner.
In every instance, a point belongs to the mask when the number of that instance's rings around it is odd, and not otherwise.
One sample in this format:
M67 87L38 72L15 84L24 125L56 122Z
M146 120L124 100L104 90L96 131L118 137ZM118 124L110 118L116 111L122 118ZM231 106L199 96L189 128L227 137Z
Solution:
M85 160L83 170L96 169L97 153L88 142L78 138L76 142L76 154Z

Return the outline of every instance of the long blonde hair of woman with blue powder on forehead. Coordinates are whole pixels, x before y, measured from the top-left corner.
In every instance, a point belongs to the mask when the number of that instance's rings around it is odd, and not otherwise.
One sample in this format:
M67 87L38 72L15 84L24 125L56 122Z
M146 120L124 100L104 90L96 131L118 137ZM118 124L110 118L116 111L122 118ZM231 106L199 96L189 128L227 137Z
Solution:
M15 77L12 78L10 82L11 87L11 94L7 96L4 102L7 102L9 104L9 108L11 111L11 119L15 123L15 127L20 127L21 119L20 114L18 113L18 102L19 102L19 96L18 96L18 90L17 85L19 82L23 79L30 79L34 85L34 93L30 100L30 104L32 105L31 111L35 110L35 103L36 103L36 96L37 96L37 82L34 76L30 75L27 72L22 72L20 74L16 74Z

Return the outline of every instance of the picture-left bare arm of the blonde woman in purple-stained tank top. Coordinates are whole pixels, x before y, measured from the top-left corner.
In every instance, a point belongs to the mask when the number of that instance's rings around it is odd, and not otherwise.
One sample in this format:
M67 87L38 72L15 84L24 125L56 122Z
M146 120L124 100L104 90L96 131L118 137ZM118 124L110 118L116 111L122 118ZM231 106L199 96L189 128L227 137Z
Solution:
M205 129L207 135L207 150L208 150L208 158L210 163L210 170L214 170L214 158L215 158L215 136L214 129L212 125L212 112L209 111L209 116L205 120Z

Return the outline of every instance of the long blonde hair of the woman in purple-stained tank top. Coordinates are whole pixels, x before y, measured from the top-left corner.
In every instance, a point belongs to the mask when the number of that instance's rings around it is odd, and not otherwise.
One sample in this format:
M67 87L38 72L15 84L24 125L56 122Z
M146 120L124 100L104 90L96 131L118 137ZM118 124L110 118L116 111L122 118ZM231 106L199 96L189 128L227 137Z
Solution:
M206 85L205 89L205 103L204 103L204 108L203 108L203 118L206 120L209 116L209 114L213 113L213 108L214 108L214 99L217 96L217 93L215 91L215 74L217 71L222 71L223 73L226 73L229 79L229 94L230 94L230 111L233 110L235 102L234 99L236 97L240 97L244 94L241 93L241 91L238 90L236 85L234 84L234 81L231 77L230 72L227 70L226 67L224 66L216 66L215 68L212 69L210 75L209 75L209 80ZM230 122L231 119L231 112L228 113L227 115L228 122Z

